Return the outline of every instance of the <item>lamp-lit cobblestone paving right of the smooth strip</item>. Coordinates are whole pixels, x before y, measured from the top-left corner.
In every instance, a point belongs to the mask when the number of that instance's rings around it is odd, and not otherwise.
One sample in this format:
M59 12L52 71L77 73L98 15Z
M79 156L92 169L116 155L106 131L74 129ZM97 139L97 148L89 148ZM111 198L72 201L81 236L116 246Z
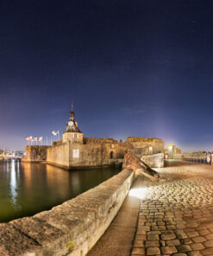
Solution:
M141 206L131 255L213 255L213 179L170 176L132 192Z

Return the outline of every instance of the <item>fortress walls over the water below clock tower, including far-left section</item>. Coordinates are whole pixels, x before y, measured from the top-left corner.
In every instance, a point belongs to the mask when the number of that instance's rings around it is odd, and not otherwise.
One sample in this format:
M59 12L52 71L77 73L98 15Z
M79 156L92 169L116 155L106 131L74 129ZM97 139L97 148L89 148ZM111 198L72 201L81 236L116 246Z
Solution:
M128 151L128 145L116 144L75 144L67 141L54 142L52 146L25 147L23 162L40 162L66 169L88 168L120 164ZM75 152L75 153L74 153Z

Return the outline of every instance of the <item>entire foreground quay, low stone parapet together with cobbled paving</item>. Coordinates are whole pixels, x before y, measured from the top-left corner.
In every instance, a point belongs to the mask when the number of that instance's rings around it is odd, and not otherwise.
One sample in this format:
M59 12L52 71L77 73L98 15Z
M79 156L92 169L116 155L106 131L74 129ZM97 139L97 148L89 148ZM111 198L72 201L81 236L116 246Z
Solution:
M155 170L158 182L126 168L49 211L1 223L0 255L213 255L213 168L166 160Z

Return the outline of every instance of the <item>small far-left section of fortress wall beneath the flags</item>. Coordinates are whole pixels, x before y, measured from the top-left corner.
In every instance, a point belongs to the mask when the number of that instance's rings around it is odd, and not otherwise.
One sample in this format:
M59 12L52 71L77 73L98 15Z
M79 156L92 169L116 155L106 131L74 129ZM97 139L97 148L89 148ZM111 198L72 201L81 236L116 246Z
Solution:
M25 146L26 155L22 157L22 161L23 162L46 161L48 148L49 146L38 146L38 145Z

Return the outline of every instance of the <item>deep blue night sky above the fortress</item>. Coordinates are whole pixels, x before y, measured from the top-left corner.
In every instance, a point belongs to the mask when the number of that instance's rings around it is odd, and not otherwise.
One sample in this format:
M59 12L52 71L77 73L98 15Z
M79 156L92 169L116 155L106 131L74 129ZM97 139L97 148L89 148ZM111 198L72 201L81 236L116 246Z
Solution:
M213 1L0 3L0 149L65 131L213 150Z

